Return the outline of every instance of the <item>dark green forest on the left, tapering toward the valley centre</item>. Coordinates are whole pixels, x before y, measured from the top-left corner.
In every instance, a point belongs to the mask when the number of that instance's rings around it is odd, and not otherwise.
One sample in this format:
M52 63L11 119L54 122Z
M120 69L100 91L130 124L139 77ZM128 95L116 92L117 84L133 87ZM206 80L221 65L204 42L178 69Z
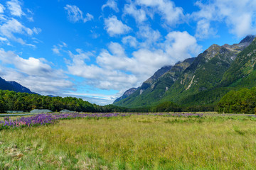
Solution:
M102 107L83 101L82 98L50 97L0 90L0 111L31 111L33 109L50 109L51 111L99 112Z

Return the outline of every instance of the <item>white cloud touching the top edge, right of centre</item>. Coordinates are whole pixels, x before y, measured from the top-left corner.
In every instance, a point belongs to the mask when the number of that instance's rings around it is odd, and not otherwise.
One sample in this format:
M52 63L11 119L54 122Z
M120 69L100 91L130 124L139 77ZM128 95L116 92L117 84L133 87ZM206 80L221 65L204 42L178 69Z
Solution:
M181 7L176 7L173 1L169 0L136 0L135 4L153 8L153 12L159 13L168 26L175 26L178 23L183 23L184 14Z

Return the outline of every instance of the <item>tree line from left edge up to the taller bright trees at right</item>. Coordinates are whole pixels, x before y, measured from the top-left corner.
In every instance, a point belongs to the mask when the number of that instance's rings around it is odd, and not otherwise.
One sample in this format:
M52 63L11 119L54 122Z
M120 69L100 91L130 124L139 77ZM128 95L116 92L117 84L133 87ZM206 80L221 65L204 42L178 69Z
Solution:
M142 108L124 108L112 104L99 106L82 98L75 97L51 97L38 94L27 94L15 91L0 90L0 113L6 111L25 111L33 109L50 109L51 111L61 111L68 109L78 112L181 112L181 111L214 111L215 106L178 106L176 103L166 101L154 106Z

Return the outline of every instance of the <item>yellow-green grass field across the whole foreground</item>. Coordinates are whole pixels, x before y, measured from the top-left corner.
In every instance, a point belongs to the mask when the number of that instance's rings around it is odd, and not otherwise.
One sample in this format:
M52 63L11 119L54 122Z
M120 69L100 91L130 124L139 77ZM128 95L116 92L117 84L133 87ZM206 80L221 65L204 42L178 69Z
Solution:
M256 169L256 118L130 115L1 130L0 169Z

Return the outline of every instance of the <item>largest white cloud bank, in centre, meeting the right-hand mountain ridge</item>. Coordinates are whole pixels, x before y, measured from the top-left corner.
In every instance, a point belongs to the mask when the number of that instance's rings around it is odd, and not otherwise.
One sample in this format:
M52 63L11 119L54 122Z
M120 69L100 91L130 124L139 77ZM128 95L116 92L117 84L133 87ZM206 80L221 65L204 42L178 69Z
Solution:
M131 37L127 37L127 40ZM87 57L72 57L68 64L70 74L87 79L87 83L100 89L124 91L139 86L157 69L175 64L188 57L196 57L201 46L187 32L174 31L166 35L159 49L141 47L128 57L118 42L110 42L107 50L96 57L96 64L87 64Z

